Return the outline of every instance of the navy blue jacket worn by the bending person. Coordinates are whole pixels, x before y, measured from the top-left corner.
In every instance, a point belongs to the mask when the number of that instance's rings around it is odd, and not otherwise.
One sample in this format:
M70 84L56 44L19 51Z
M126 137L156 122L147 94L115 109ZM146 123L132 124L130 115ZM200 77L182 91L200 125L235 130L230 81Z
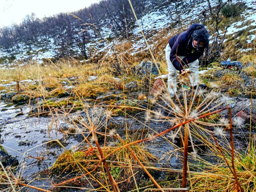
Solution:
M175 35L169 40L169 45L171 47L170 60L173 66L181 73L183 66L186 66L188 63L191 63L201 55L205 47L200 47L197 51L196 48L192 46L192 33L194 30L203 28L201 24L192 24L187 31L182 32L181 34ZM182 60L177 56L185 56Z

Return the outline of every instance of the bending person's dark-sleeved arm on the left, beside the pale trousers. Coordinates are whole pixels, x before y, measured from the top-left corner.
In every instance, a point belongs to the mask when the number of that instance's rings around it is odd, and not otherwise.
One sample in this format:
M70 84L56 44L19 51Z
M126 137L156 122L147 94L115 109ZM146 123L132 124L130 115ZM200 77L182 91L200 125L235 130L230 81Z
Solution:
M183 43L184 42L182 41L181 36L179 36L175 41L175 43L173 44L173 47L171 47L171 53L170 53L170 61L175 67L175 69L177 69L180 73L182 73L184 65L182 63L183 60L178 58L177 53L179 52L179 49L181 48L181 45L183 45Z

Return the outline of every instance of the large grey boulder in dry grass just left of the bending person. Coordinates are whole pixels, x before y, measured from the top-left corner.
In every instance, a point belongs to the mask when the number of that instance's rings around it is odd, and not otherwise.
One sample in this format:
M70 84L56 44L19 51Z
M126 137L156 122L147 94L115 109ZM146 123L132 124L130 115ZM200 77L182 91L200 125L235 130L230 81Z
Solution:
M160 64L159 63L156 63L156 64L159 68ZM151 62L151 61L146 62L145 60L143 60L143 61L141 61L140 64L138 64L136 66L136 71L135 71L136 75L148 75L149 76L150 73L152 75L159 75L156 65L153 62Z

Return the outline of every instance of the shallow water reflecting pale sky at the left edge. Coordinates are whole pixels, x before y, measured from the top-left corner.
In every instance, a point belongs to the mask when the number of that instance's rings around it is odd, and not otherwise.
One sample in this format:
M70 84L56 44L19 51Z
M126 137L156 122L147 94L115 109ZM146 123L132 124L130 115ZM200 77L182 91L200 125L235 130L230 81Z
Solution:
M63 134L58 130L66 127L67 124L57 120L51 125L51 117L30 117L28 105L8 105L11 104L0 102L0 141L9 154L16 156L20 163L25 163L23 176L29 179L34 173L49 168L64 151L58 144L54 146L41 144L53 139L63 139ZM17 114L19 116L15 117ZM50 127L52 128L48 131ZM70 149L71 145L76 144L77 141L69 137L65 143L66 148ZM27 156L44 159L38 162L35 158Z

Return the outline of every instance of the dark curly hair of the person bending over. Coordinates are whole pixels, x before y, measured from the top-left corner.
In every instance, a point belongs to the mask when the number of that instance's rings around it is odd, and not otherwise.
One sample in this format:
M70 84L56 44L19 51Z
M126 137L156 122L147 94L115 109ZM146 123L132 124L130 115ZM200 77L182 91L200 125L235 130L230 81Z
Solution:
M203 28L194 30L191 37L193 40L196 40L198 42L203 42L204 43L203 47L208 50L208 48L209 48L209 33L206 28L203 27ZM199 49L199 48L200 47L199 47L199 43L198 43L197 49Z

